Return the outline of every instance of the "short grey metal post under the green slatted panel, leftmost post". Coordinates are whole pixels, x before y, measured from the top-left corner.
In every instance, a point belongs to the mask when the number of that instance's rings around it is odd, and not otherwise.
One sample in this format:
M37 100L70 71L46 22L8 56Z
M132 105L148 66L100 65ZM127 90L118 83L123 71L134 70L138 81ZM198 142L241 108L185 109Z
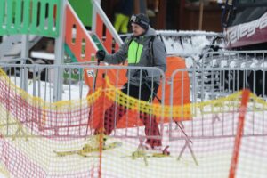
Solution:
M20 64L25 64L26 59L28 58L28 35L22 35L21 36L21 53L20 58L22 59L20 61ZM20 70L20 88L28 91L28 75L26 74L26 71L24 68L21 68Z

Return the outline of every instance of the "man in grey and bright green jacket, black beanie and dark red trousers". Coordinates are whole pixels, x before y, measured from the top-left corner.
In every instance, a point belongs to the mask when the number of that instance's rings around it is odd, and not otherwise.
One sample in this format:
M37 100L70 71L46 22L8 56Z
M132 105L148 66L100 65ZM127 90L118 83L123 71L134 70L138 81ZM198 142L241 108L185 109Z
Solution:
M117 53L107 54L105 51L99 50L96 53L98 61L119 64L127 60L128 66L157 67L165 72L165 46L157 37L155 29L150 27L149 18L139 13L131 17L130 23L133 34L126 37L125 43L120 46ZM151 41L152 43L150 43ZM160 76L161 73L155 69L129 69L127 71L128 81L121 91L138 100L152 101L158 92ZM105 111L104 134L109 135L114 130L116 123L125 112L125 107L118 104L113 104ZM157 138L147 139L147 146L152 150L161 149L161 139L156 119L145 113L140 113L140 116L143 125L145 125L145 134L147 136L158 136ZM96 129L95 134L98 133L99 129Z

